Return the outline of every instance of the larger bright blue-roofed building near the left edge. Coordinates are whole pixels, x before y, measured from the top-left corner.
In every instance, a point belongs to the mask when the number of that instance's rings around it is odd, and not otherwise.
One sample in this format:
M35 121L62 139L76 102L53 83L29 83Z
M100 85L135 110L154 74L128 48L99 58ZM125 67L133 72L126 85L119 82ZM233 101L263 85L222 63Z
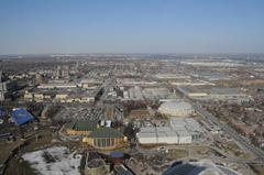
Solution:
M33 121L35 118L24 108L15 108L12 110L12 118L18 125Z

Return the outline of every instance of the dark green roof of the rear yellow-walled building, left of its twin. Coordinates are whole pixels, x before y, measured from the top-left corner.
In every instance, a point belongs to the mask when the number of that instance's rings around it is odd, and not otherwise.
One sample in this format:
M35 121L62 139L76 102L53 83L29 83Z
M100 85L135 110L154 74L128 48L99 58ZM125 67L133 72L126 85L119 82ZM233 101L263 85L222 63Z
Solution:
M69 128L76 131L94 131L97 129L97 120L73 120Z

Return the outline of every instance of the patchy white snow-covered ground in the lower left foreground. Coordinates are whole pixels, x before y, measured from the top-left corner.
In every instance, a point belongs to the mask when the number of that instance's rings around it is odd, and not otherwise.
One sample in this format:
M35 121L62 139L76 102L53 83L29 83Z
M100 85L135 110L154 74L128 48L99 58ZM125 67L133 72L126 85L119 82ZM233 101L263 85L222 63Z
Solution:
M79 175L80 154L70 153L65 146L54 146L22 156L42 175Z

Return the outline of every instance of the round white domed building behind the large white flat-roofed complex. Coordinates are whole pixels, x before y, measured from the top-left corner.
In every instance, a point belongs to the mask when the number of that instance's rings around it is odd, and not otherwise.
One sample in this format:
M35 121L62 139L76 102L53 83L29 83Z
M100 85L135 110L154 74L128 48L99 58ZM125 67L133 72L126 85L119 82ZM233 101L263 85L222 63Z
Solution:
M158 108L158 111L168 117L188 117L195 113L194 108L182 100L164 102Z

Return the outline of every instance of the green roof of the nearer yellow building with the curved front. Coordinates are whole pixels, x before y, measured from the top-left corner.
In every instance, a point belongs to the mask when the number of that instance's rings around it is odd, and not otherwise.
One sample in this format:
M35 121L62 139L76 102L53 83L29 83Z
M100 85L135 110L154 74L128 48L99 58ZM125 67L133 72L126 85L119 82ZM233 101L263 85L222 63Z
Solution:
M123 133L113 128L100 128L92 131L90 138L123 138Z

